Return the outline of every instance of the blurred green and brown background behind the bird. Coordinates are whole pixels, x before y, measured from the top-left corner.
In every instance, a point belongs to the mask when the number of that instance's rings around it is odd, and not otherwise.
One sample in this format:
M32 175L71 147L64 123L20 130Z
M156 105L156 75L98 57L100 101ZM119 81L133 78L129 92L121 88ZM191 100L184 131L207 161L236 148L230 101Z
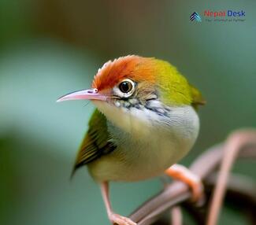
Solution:
M203 10L244 10L243 22L192 23ZM256 2L0 1L0 224L108 224L86 169L69 175L94 107L56 103L90 87L105 61L127 54L176 65L202 90L201 132L189 165L239 127L256 125ZM236 171L254 175L255 164ZM161 190L158 179L111 186L129 212ZM186 217L187 224L193 224ZM220 224L247 224L230 208Z

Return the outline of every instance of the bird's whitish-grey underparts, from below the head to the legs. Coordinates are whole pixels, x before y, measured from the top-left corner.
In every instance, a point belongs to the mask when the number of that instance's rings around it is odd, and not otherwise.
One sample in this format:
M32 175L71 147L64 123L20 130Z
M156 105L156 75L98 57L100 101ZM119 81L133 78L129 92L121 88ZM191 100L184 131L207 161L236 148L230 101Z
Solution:
M89 165L98 181L135 181L161 175L184 157L198 135L198 116L191 106L172 108L169 120L160 120L150 110L126 113L112 108L108 115L108 109L102 108L98 107L110 120L109 133L117 149Z

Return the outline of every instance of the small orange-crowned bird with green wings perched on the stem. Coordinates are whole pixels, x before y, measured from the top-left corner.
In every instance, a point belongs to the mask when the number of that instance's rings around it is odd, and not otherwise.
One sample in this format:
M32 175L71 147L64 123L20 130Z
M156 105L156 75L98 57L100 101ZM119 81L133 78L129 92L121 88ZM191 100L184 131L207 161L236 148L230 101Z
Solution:
M107 61L90 89L58 101L90 100L96 109L80 146L73 172L87 165L101 187L113 224L135 221L113 212L109 182L134 182L163 174L187 183L192 200L202 197L197 175L176 164L198 137L198 106L206 101L168 61L128 55Z

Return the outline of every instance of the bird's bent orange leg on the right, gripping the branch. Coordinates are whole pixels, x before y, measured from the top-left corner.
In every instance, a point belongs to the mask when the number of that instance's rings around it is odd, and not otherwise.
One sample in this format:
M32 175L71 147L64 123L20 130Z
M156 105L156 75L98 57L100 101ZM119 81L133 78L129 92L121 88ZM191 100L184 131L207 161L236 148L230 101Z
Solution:
M180 164L174 164L165 171L165 174L171 176L173 179L179 179L187 183L192 190L192 201L199 201L203 197L203 186L201 179L192 173L188 168Z

